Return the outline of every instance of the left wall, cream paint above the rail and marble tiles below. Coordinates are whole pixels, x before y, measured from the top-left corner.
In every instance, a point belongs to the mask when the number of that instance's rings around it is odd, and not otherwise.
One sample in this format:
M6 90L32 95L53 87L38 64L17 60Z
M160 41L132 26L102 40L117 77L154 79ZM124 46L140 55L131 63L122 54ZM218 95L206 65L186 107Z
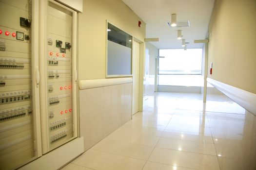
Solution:
M145 23L121 0L83 0L83 13L78 15L79 81L106 78L106 21L144 41ZM85 150L131 119L131 97L132 83L79 90Z

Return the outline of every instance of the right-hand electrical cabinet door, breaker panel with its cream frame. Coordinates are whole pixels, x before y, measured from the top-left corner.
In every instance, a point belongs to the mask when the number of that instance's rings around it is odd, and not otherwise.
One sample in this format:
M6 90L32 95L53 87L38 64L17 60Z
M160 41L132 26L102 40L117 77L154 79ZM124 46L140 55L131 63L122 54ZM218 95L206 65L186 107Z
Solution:
M76 12L48 1L46 34L41 57L41 109L43 153L72 140L76 135Z

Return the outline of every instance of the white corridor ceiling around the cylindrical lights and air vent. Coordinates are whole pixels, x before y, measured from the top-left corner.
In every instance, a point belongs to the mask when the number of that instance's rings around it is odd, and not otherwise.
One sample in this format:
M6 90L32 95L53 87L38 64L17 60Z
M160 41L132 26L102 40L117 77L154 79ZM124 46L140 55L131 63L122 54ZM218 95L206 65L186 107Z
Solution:
M187 48L202 48L194 44L195 39L205 39L212 14L214 0L122 0L144 22L146 38L160 38L151 42L158 49L181 49L177 30L182 31ZM190 27L170 28L171 14L177 14L177 21L190 21Z

